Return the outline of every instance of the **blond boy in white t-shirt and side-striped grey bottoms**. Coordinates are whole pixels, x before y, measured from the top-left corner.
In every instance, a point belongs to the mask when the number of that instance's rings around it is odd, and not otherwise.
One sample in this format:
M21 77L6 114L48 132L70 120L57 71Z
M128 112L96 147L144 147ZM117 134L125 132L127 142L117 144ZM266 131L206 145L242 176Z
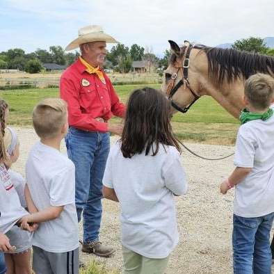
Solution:
M33 270L36 274L77 274L75 168L60 152L68 128L65 101L47 98L38 103L33 110L33 127L40 142L33 146L26 162L26 192L31 193L38 212L22 220L22 227L40 223L33 235Z

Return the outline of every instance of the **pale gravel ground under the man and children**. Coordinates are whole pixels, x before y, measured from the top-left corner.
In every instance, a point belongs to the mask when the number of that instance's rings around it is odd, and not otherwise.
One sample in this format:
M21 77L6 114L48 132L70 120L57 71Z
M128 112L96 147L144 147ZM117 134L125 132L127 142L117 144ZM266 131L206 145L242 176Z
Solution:
M16 128L21 143L21 155L13 169L24 175L24 164L31 146L38 140L31 128ZM112 142L115 138L112 138ZM233 152L234 147L187 144L205 157L220 157ZM62 144L65 153L65 145ZM233 190L220 195L219 184L233 169L233 157L221 161L206 161L186 150L182 163L188 175L188 192L176 198L180 241L170 255L168 274L175 273L232 273L232 210ZM101 259L81 255L84 262L96 259L107 269L122 268L120 248L119 205L103 201L101 240L112 245L113 257ZM80 227L81 238L81 227Z

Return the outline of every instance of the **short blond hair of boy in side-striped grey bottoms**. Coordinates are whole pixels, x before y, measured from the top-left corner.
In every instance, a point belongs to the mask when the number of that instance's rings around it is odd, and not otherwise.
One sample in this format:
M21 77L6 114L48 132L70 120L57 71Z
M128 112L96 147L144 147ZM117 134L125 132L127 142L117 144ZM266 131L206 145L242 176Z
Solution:
M66 120L67 103L63 99L43 99L33 109L33 127L40 138L58 136Z

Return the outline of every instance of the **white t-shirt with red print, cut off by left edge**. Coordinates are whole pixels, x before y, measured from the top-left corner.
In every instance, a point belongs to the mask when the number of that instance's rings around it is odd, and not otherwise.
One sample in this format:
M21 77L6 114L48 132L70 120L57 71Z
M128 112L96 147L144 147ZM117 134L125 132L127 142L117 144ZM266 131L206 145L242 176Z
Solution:
M4 234L19 218L28 214L20 204L15 186L10 180L10 173L3 163L0 164L0 213L0 232Z

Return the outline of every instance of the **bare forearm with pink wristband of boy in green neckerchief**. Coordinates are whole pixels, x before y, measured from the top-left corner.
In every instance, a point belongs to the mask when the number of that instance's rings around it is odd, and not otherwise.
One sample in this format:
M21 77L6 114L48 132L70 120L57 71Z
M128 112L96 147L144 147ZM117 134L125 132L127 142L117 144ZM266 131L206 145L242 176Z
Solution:
M220 193L226 194L230 188L241 183L243 179L248 176L251 170L252 168L236 167L232 174L222 184L220 184Z

